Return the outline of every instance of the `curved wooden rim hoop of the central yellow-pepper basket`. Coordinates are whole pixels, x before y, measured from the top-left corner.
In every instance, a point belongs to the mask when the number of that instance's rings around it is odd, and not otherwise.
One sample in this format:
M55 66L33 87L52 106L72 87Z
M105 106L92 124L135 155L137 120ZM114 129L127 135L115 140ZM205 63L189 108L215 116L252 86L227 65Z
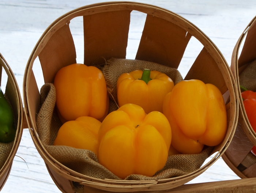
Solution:
M233 127L237 123L237 118L235 116L236 113L237 113L237 110L238 110L237 103L236 103L237 100L236 100L236 95L235 95L237 90L234 90L234 88L233 88L234 81L232 79L232 76L229 75L229 68L226 64L225 59L223 58L223 56L221 55L221 52L217 49L217 47L211 42L211 40L208 37L206 37L203 34L203 32L201 32L192 23L189 23L188 21L186 21L182 17L180 17L180 16L176 15L175 13L172 13L172 12L166 10L166 9L158 8L158 7L151 6L151 5L138 4L138 3L120 3L120 2L119 3L113 3L112 2L112 3L109 3L109 4L108 3L102 3L102 4L90 5L90 6L86 6L86 7L76 9L72 12L69 12L69 13L65 14L64 16L60 17L56 21L54 21L54 23L51 24L48 27L48 29L44 32L43 36L39 39L36 47L34 48L32 54L31 54L31 57L28 61L28 65L27 65L27 68L26 68L26 71L25 71L25 80L24 80L24 82L25 82L24 88L25 89L23 89L23 91L24 91L25 98L27 96L29 96L29 99L24 100L25 101L26 112L28 114L28 118L30 118L29 115L31 113L33 113L33 112L30 111L30 107L28 105L28 101L31 101L31 98L33 98L33 95L28 94L28 92L29 92L28 89L31 88L31 87L28 87L28 84L30 83L29 79L30 79L30 76L31 76L30 71L32 71L32 66L33 66L33 62L34 62L35 58L43 50L47 41L50 38L52 38L52 35L54 35L54 31L59 30L63 25L66 25L66 23L68 23L69 20L71 20L72 18L74 18L76 16L94 15L96 13L103 13L103 12L109 12L109 11L121 11L121 10L142 11L144 13L147 13L147 14L151 15L151 16L154 15L154 17L159 17L159 18L162 18L164 20L167 20L170 23L176 24L179 27L183 28L184 31L188 31L189 34L195 36L203 44L203 46L206 47L208 52L212 55L212 58L214 58L214 60L218 64L219 68L223 72L223 76L225 76L224 78L225 78L227 87L229 88L229 91L230 91L230 101L231 101L230 117L231 118L230 118L229 128L233 129ZM184 37L186 37L186 36L184 36ZM37 106L37 104L34 104L34 106ZM30 118L30 121L33 122L34 120L32 120ZM76 181L76 182L87 182L87 181L83 181L83 179L85 179L85 178L91 179L91 177L83 176L82 174L76 173L76 172L72 171L71 169L61 165L58 162L54 162L54 159L47 153L47 151L42 146L42 144L41 144L41 142L40 142L40 140L39 140L39 138L36 134L35 129L36 128L34 126L33 126L33 130L30 129L30 133L31 133L33 142L35 143L35 146L37 147L37 150L38 150L39 154L44 158L44 161L46 162L47 165L49 165L49 167L52 167L52 169L56 173L60 174L61 176L65 177L65 178L67 178L68 180L72 180L72 181ZM232 138L232 133L229 133L229 137L227 137L227 140L225 139L225 142L223 144L228 144L228 142L231 140L231 138ZM154 191L154 190L155 191L157 191L157 190L169 190L171 188L175 188L175 187L180 186L184 183L187 183L188 181L192 180L196 176L199 176L208 167L210 167L220 157L219 155L223 154L224 148L226 148L226 145L225 145L225 147L221 148L219 154L216 154L215 157L211 159L211 161L209 161L206 165L202 166L202 168L195 171L194 173L190 173L190 174L182 176L180 178L177 177L175 180L170 179L170 178L166 179L166 183L154 185L150 189L148 189L148 187L147 187L147 190L151 190L151 191ZM59 165L60 167L56 167L56 165ZM63 171L63 168L64 168L65 172ZM106 186L105 183L102 183L102 186L105 187ZM139 190L139 189L136 189L136 187L137 187L136 185L132 185L132 186L133 186L132 188L133 188L134 191ZM98 187L99 186L97 186L97 188ZM108 187L106 187L106 189L107 188ZM140 188L140 187L138 187L138 188ZM126 191L130 191L130 190L131 189L126 189ZM143 189L143 190L146 190L146 189Z

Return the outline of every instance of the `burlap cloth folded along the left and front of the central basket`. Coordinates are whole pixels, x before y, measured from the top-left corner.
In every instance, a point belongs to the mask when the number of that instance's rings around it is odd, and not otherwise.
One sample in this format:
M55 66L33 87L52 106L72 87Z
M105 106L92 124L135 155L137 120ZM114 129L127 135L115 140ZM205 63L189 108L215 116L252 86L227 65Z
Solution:
M126 64L132 68L138 69L136 64L132 63L132 61L131 63ZM112 69L111 66L108 66L107 68ZM144 69L144 66L140 67L139 69ZM152 67L151 70L155 70L155 67ZM173 80L176 80L175 77L179 75L178 71L175 71L176 72L174 73L170 73L173 77ZM122 71L118 73L121 72ZM118 74L116 74L114 79L116 79L117 76ZM106 79L108 80L108 78ZM114 90L115 88L112 89ZM51 83L46 83L44 86L42 86L40 95L41 109L37 116L37 132L39 139L41 140L45 149L50 153L50 155L52 155L52 157L59 161L61 164L86 176L100 179L108 178L121 180L119 177L99 164L96 155L92 151L85 149L75 149L68 146L53 146L54 139L56 138L58 130L62 125L56 112L56 91L54 85ZM114 103L110 102L110 105L111 104L113 105ZM125 180L159 180L191 173L202 166L203 162L210 155L212 149L213 147L207 147L200 154L179 154L169 156L164 168L158 171L153 177L132 174L125 178Z

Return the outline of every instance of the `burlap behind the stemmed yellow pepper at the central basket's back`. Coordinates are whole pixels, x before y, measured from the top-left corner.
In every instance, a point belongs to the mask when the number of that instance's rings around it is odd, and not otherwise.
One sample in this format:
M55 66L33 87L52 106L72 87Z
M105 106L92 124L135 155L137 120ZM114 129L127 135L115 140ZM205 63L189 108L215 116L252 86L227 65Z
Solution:
M106 65L102 68L102 72L106 79L110 99L117 103L116 82L121 74L129 73L134 70L144 70L145 68L150 70L157 70L159 72L166 74L173 80L174 85L183 80L180 72L176 68L171 68L163 66L161 64L147 62L143 60L111 58L106 62ZM118 107L112 108L116 110Z

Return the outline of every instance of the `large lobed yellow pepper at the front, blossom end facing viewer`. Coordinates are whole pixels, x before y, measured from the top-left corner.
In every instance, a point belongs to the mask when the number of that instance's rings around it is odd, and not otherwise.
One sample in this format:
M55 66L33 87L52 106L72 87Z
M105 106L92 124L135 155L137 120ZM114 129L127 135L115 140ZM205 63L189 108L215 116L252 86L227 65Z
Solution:
M99 132L99 163L124 179L130 174L153 176L165 166L172 140L166 117L125 104L108 114Z

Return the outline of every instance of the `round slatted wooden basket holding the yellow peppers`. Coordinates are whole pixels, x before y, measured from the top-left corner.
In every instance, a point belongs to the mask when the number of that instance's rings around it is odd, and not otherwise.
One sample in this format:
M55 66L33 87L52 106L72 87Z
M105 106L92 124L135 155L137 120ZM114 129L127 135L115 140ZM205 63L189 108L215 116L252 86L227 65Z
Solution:
M185 48L192 36L203 45L185 79L200 79L217 86L223 95L230 94L227 109L227 135L215 146L212 159L193 173L158 181L125 181L97 179L84 176L56 161L39 140L36 117L39 111L39 88L32 67L38 56L45 83L52 83L56 72L76 63L76 50L69 22L83 16L84 64L95 65L99 57L125 58L131 11L147 14L146 23L136 59L178 68ZM114 29L114 30L113 30ZM63 37L65 41L63 41ZM100 45L98 45L100 43ZM102 46L104 45L104 46ZM44 49L47 48L47 49ZM96 62L95 62L96 61ZM31 137L45 161L46 167L62 192L74 193L73 182L84 185L84 192L135 192L160 191L181 186L202 174L225 152L237 125L237 87L226 60L211 40L195 25L181 16L153 5L134 2L108 2L75 9L55 20L36 44L25 70L24 104Z

